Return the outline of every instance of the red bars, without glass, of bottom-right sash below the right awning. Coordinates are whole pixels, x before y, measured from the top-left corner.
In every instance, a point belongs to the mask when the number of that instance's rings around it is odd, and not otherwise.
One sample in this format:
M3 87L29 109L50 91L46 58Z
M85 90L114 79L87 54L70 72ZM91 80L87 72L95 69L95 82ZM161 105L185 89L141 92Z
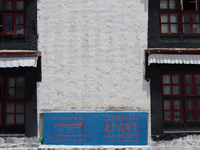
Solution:
M187 101L194 101L194 109L188 109L187 107ZM185 101L185 106L186 106L186 120L187 122L200 122L200 120L198 120L198 116L197 116L197 113L200 112L200 109L197 109L197 101L200 101L200 99L186 99ZM188 114L187 112L188 111L193 111L194 112L194 121L192 120L188 120Z

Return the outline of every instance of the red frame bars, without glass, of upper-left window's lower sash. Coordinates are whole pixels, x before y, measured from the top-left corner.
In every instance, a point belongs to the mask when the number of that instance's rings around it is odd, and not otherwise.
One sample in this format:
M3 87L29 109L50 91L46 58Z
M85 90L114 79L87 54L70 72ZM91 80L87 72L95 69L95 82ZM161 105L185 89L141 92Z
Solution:
M11 23L5 23L5 15L11 15ZM17 15L23 15L23 23L16 23L16 16ZM14 22L13 22L13 18L14 18ZM24 15L24 13L4 13L2 25L3 25L2 35L25 35L25 15ZM7 25L11 26L11 33L10 34L4 32L4 29L6 28ZM18 25L23 26L23 33L22 34L16 33L16 26L18 26ZM14 31L13 31L13 28L14 28Z

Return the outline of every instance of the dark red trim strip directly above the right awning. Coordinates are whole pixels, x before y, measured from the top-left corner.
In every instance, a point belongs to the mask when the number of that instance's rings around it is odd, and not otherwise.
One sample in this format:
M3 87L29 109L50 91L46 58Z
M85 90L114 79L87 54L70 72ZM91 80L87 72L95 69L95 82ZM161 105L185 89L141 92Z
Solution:
M149 50L149 54L151 53L171 53L171 54L200 54L200 50Z

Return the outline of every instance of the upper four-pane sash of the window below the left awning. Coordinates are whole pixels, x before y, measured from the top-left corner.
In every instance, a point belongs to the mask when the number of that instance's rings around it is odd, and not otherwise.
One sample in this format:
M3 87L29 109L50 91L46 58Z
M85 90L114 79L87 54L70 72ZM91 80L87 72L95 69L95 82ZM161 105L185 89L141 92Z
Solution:
M24 99L25 98L25 79L24 77L6 78L6 99Z

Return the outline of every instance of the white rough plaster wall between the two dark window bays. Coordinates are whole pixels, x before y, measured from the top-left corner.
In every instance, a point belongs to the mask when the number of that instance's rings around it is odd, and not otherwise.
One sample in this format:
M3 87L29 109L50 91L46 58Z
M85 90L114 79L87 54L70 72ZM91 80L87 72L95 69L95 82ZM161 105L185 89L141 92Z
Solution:
M41 109L149 110L146 0L39 0Z

